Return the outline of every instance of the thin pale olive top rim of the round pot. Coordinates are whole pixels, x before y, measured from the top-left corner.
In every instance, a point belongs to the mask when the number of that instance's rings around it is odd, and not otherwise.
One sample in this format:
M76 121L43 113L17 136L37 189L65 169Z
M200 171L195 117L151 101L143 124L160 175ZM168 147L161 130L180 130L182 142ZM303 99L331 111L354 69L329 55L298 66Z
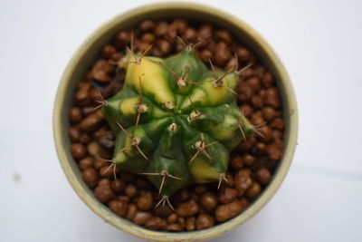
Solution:
M189 231L189 232L162 232L162 231L153 231L148 230L145 227L139 227L125 218L120 218L119 216L113 214L109 208L101 204L96 200L90 192L87 192L87 189L84 189L84 184L80 179L77 179L76 174L73 169L71 169L70 162L74 162L69 159L67 155L68 147L65 147L63 140L64 131L61 129L62 121L61 114L63 110L63 103L65 101L65 93L67 92L68 82L71 79L72 70L78 64L81 59L81 55L86 53L89 49L91 43L95 42L98 37L102 34L107 33L118 23L123 22L130 18L132 15L140 15L141 13L146 12L157 12L161 9L186 9L195 12L203 12L206 15L214 15L218 18L225 19L227 22L232 23L237 26L238 29L243 29L244 32L251 35L253 41L257 42L263 48L263 52L266 53L272 63L275 65L275 69L280 74L281 84L285 90L286 97L285 102L289 110L284 109L284 112L287 112L290 119L290 128L289 128L289 139L284 147L284 154L278 169L274 172L273 179L266 189L263 190L262 194L257 198L248 208L243 210L243 212L235 218L232 218L220 225L204 229L202 231ZM283 103L283 107L285 107ZM285 114L284 114L285 115ZM110 223L112 226L119 228L120 230L127 232L133 236L141 237L145 239L152 239L157 241L196 241L207 238L212 238L220 236L227 231L233 230L233 228L242 225L245 221L252 218L261 208L263 208L269 200L273 197L277 189L280 188L281 182L285 178L290 166L291 160L294 155L294 151L297 145L298 137L298 109L296 97L291 85L291 80L286 72L283 64L281 63L278 55L272 50L271 46L263 39L263 37L258 34L249 24L244 23L242 20L236 16L230 15L223 10L215 8L209 5L196 4L192 2L177 2L177 1L167 1L167 2L158 2L147 5L140 5L136 8L132 8L124 13L112 17L110 20L101 24L99 28L93 31L92 34L81 44L77 51L71 57L71 61L68 63L64 73L62 74L61 82L58 86L58 91L56 94L54 102L54 110L52 116L53 124L53 137L55 142L55 147L57 150L58 158L60 160L64 174L66 175L69 183L71 184L72 189L78 194L81 200L93 210L100 218ZM285 135L285 134L284 134Z

